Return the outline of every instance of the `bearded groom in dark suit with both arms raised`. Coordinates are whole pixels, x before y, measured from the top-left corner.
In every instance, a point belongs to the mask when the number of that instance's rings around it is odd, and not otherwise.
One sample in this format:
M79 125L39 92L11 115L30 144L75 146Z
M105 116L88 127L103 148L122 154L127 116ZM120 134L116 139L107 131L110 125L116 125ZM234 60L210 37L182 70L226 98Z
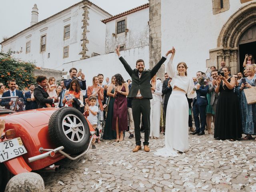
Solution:
M140 141L140 114L142 114L142 120L144 123L144 151L149 152L148 139L150 134L150 99L152 99L152 92L154 88L150 86L150 80L153 76L156 75L156 72L159 70L161 65L166 60L168 54L173 52L173 49L168 51L166 56L163 56L161 60L152 68L152 70L144 70L145 65L142 59L136 61L136 69L132 70L130 65L124 60L119 52L120 46L116 48L116 54L118 55L119 60L124 65L124 68L132 78L132 86L130 88L128 98L132 99L132 116L134 120L134 131L135 131L135 140L136 147L132 152L138 152L141 150L141 141Z

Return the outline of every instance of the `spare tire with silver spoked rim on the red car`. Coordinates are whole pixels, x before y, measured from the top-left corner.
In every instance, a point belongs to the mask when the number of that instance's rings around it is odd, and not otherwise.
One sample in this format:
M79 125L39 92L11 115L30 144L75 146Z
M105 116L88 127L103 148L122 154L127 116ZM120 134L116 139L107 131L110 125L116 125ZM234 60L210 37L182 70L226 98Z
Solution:
M72 107L56 110L48 124L50 139L64 152L76 154L84 151L90 141L90 128L80 111Z

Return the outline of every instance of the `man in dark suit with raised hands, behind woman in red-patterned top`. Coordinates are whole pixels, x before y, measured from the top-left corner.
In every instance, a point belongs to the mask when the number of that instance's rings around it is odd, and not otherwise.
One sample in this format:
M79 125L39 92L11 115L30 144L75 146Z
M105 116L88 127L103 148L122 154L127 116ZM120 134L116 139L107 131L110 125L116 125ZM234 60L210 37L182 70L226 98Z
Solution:
M77 79L80 83L80 88L82 90L86 90L86 80L82 71L77 72L77 69L73 67L69 70L69 75L70 75L70 79L64 81L64 85L67 89L69 89L71 81L73 79ZM81 80L78 79L78 77L80 76L81 76Z

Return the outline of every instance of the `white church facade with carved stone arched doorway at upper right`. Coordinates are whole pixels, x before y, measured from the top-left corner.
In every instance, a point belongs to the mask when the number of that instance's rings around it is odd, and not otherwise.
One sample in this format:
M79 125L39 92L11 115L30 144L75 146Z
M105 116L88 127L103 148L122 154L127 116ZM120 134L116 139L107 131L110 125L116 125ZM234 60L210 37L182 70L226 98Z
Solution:
M256 56L255 13L255 0L161 0L162 54L175 46L174 62L186 62L190 76L221 60L234 74L246 53Z

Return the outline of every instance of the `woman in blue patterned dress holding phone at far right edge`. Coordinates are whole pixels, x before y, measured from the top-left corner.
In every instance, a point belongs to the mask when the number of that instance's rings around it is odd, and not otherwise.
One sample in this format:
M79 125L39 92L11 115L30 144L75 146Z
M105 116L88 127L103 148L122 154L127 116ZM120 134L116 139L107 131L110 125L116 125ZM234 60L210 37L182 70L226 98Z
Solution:
M246 66L246 71L248 77L242 78L238 87L236 88L236 93L240 98L240 110L242 114L242 130L246 134L244 140L252 139L252 135L256 134L256 104L248 105L246 96L244 94L244 89L251 88L256 86L256 75L255 75L255 66L248 65ZM256 140L256 138L255 138Z

